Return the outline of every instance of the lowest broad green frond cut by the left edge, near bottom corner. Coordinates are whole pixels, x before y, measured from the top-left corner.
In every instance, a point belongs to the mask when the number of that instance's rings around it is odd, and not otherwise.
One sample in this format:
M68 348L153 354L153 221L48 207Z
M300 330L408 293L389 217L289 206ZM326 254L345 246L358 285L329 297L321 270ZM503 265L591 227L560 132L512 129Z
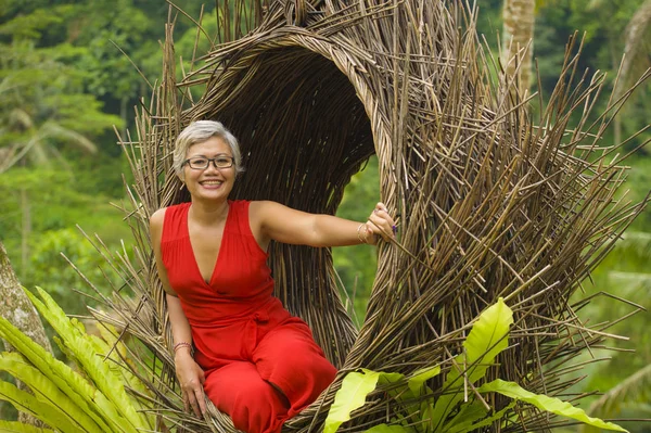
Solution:
M75 425L61 410L18 390L12 383L0 381L0 399L11 403L17 410L28 413L48 425L56 425L56 430L62 433L79 433L78 425Z

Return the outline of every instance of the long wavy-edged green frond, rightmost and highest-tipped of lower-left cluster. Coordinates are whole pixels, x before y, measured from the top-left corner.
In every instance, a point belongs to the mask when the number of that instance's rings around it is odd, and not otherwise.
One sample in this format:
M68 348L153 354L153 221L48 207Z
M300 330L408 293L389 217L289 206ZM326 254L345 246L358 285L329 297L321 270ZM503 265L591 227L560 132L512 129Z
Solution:
M61 336L66 347L74 354L75 360L94 382L98 391L105 396L105 399L100 397L100 402L98 402L95 393L95 402L101 403L100 407L112 417L115 424L120 426L120 431L137 433L138 429L149 429L145 417L136 411L131 397L126 393L122 375L112 370L108 362L104 361L101 356L98 356L88 334L79 329L80 323L72 322L44 290L37 288L37 291L43 302L29 291L25 292L38 311Z

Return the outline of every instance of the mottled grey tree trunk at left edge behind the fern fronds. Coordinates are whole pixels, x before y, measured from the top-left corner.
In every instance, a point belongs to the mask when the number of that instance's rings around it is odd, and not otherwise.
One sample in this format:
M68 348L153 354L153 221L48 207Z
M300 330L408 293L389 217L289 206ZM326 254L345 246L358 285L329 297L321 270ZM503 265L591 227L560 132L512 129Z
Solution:
M25 295L11 267L2 241L0 241L0 298L2 298L2 302L0 302L0 316L52 353L52 346L46 335L40 317L34 305L29 302L29 298ZM7 351L11 352L13 349L7 342L3 343ZM18 382L17 385L20 389L26 390L23 383ZM42 426L40 421L26 413L20 413L18 419L24 423Z

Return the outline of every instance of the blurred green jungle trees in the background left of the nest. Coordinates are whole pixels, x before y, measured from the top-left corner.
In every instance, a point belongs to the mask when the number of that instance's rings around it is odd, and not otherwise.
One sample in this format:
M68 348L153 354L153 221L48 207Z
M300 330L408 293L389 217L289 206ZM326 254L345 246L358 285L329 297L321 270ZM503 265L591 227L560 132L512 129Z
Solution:
M202 3L188 0L182 8L199 17ZM0 235L22 282L48 281L71 313L84 308L72 290L82 282L61 252L100 289L106 285L101 256L74 226L99 233L108 250L130 237L108 204L123 196L120 174L129 171L113 126L126 128L132 106L149 93L131 61L150 81L158 76L168 10L156 0L0 5ZM177 35L192 26L178 15ZM15 165L7 170L10 161Z

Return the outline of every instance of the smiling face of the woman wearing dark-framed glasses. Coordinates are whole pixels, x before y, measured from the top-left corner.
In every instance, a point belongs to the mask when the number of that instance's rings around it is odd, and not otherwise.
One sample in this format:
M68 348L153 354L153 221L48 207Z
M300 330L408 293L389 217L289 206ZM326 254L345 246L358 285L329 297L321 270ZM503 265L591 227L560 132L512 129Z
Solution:
M224 156L224 157L219 157ZM205 160L206 168L192 168L190 163L183 165L186 186L192 200L226 200L233 189L235 165L232 161L230 147L219 137L210 137L206 141L191 145L186 153L186 160L192 160L192 165L201 166ZM228 168L217 168L225 162L232 162Z

